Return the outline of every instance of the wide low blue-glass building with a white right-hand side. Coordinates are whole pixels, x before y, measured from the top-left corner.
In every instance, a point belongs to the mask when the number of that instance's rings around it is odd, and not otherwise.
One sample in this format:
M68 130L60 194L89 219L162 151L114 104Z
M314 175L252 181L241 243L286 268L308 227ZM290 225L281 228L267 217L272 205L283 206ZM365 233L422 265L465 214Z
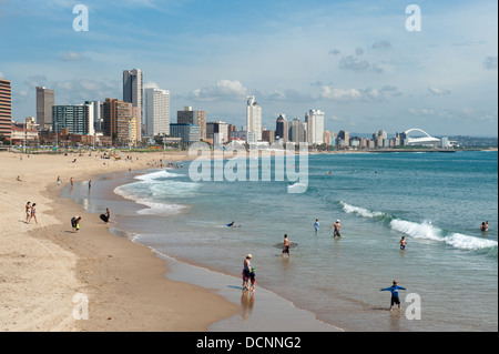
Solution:
M68 129L71 134L93 135L93 102L52 105L52 131Z

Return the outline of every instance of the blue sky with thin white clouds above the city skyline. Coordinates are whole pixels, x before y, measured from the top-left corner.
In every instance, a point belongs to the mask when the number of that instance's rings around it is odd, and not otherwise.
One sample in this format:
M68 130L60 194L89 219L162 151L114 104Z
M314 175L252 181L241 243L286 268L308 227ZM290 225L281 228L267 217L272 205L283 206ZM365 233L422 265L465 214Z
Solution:
M75 32L75 4L89 31ZM421 9L407 31L406 7ZM0 77L13 119L35 115L35 85L57 104L122 98L124 69L208 121L245 123L246 95L275 129L319 109L325 128L496 135L498 4L478 1L0 0ZM3 33L9 33L3 37Z

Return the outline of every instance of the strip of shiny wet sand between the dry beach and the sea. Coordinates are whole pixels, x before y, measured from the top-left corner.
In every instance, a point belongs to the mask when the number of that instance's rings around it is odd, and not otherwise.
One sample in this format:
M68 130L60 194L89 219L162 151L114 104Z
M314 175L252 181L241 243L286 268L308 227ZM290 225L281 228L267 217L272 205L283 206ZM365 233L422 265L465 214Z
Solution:
M155 169L151 168L145 171L140 171L140 174L151 172L155 172ZM120 203L124 201L126 204L133 205L128 206L131 208L133 212L142 210L144 205L113 192L119 185L131 183L135 175L136 174L132 176L122 173L122 176L118 176L115 180L112 179L114 182L112 183L112 188L106 189L104 200L118 200ZM92 205L90 206L92 208ZM123 206L120 209L122 208ZM120 218L126 216L120 215ZM131 232L130 230L121 227L120 221L116 221L111 227L112 230L110 230L110 233L114 236L149 247L159 259L164 260L169 267L169 272L164 274L166 279L208 289L213 293L220 294L240 307L240 311L232 316L220 318L211 323L207 327L208 332L281 332L284 330L291 332L344 331L334 324L318 320L315 313L297 307L293 302L278 295L272 290L258 286L256 295L242 292L240 286L241 279L237 274L228 274L221 270L198 264L189 259L163 254L146 242L142 243L140 236L134 234L133 231ZM165 234L167 235L167 233ZM255 297L257 297L257 306L254 306ZM269 318L268 313L273 312L275 312L275 317ZM297 318L299 318L299 321L296 321Z

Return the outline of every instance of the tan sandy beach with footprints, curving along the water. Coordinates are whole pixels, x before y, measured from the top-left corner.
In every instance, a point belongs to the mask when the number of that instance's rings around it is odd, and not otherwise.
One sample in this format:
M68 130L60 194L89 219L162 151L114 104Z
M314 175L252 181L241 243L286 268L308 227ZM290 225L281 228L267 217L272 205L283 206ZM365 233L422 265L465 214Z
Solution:
M95 180L160 159L187 159L181 152L126 155L132 159L0 152L0 331L206 331L240 312L205 287L167 280L167 264L149 247L112 235L98 215L59 198L71 178ZM26 221L28 201L37 204L38 223ZM70 224L74 215L82 216L78 233Z

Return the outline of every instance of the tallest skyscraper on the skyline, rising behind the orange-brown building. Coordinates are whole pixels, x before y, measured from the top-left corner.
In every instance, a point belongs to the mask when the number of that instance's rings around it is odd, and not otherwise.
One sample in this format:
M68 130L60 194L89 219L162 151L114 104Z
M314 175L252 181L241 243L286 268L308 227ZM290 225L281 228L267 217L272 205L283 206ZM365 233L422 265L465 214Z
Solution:
M136 121L136 136L138 141L142 139L142 131L144 130L144 79L142 74L142 70L132 69L132 70L123 70L123 102L132 103L132 107L135 108L135 117Z

